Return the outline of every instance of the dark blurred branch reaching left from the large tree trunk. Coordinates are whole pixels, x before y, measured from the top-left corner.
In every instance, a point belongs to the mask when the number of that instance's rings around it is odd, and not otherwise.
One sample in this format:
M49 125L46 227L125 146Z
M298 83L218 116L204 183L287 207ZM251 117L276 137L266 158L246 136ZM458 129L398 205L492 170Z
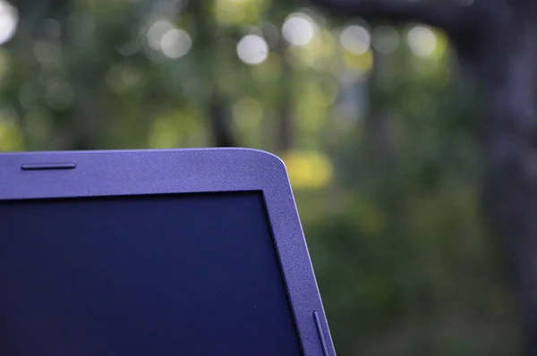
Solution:
M311 0L311 4L341 16L359 16L364 20L422 22L459 33L466 21L465 8L449 0Z

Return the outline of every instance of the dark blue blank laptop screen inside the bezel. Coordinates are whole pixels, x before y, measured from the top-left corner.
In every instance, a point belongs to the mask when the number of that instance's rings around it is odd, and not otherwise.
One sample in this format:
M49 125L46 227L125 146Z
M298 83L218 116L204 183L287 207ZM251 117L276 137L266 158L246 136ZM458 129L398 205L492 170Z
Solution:
M0 355L300 355L259 192L0 202Z

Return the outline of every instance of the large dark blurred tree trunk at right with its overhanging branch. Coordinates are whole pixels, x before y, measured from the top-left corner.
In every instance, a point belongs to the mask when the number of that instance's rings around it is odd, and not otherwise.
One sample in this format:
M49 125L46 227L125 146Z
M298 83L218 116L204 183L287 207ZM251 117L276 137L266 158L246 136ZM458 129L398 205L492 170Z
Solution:
M365 20L444 30L485 94L484 208L507 252L525 352L537 355L537 1L311 0Z

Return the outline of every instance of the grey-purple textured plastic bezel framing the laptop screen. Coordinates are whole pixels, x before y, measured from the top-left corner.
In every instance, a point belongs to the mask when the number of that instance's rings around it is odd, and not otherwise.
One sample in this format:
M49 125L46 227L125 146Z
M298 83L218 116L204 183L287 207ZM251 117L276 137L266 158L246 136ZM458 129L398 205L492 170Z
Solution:
M335 355L286 166L248 148L0 154L0 202L260 191L305 355ZM275 340L277 342L277 340Z

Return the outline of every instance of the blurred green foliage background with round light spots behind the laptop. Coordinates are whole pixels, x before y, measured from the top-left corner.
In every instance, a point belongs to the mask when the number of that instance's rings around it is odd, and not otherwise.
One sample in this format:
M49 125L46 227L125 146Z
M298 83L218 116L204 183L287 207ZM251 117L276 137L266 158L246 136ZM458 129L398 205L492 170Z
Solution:
M2 151L283 157L339 355L518 354L480 93L442 33L283 0L2 0L0 43Z

